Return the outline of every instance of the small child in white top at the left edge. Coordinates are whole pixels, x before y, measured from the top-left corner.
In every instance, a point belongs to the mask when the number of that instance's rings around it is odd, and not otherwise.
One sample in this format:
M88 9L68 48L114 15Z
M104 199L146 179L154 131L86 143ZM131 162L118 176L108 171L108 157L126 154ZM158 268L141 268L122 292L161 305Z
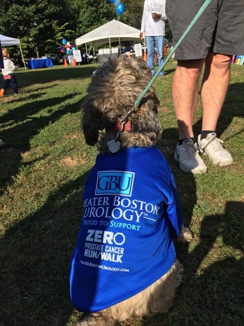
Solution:
M3 59L4 59L4 69L2 69L2 74L4 76L4 84L0 90L0 97L4 96L4 92L9 88L10 83L12 84L12 89L14 91L14 96L18 95L18 83L14 74L14 70L18 69L19 66L15 66L12 60L10 60L10 53L6 47L2 48Z

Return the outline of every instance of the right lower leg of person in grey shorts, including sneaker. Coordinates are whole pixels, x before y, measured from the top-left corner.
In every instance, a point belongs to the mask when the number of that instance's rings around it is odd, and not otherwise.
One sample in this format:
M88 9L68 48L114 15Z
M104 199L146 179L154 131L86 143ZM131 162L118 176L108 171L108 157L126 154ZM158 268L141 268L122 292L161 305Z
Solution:
M231 165L231 154L217 138L216 125L230 82L231 56L209 53L205 61L202 80L202 132L198 135L200 152L205 152L213 164L221 167Z

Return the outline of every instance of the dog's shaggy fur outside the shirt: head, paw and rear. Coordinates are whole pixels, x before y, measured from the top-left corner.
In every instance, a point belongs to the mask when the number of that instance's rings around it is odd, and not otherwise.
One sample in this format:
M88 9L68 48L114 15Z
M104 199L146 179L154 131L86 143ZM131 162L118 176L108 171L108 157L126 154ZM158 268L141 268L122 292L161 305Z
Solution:
M99 135L100 130L127 115L150 79L150 69L142 59L113 58L98 69L83 104L82 129L88 145L98 144L101 153L109 151L107 142L115 140L117 132ZM156 144L162 134L157 116L158 105L159 98L151 86L139 107L129 116L129 120L136 124L136 130L119 132L121 147L149 147ZM190 230L183 227L180 239L190 241L191 238ZM183 267L176 259L168 273L145 290L107 309L88 314L75 325L110 326L133 314L150 316L167 312L175 289L181 282L182 272Z

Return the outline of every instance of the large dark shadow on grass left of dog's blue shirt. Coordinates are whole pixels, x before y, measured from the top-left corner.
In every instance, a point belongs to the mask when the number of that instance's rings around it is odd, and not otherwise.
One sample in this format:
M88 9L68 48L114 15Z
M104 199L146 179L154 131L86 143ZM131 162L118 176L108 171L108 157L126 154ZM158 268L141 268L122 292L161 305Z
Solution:
M60 326L68 322L73 311L69 263L83 212L87 174L60 187L39 211L10 227L0 239L1 325Z

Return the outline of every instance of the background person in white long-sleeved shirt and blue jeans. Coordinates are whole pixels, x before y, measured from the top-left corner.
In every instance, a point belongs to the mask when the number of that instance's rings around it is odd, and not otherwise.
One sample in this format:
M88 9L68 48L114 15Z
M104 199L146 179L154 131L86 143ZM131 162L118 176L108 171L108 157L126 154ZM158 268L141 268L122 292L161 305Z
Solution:
M155 65L154 55L155 46L158 52L159 68L164 62L164 36L165 36L165 0L145 0L141 21L141 33L139 38L143 39L143 33L145 33L145 40L147 46L147 65L151 69L151 74L154 76ZM164 76L162 70L159 76Z

